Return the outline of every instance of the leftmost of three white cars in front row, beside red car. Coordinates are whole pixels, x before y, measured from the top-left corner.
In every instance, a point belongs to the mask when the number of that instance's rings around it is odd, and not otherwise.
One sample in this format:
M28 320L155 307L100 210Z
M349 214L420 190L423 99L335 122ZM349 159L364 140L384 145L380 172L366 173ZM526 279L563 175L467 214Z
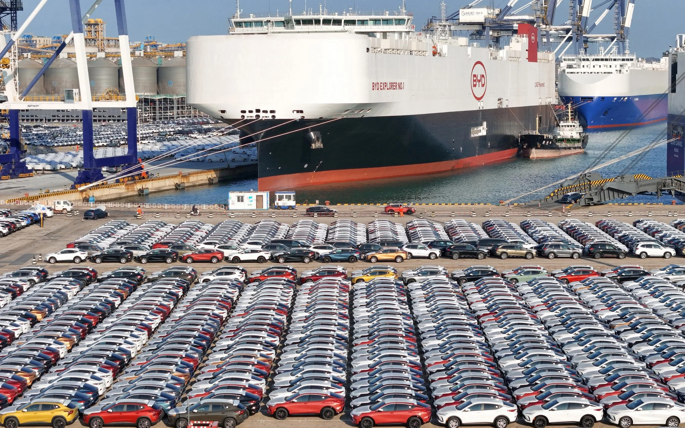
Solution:
M438 423L447 428L460 425L490 425L505 428L516 422L519 410L516 405L498 399L471 399L460 405L447 405L438 409Z

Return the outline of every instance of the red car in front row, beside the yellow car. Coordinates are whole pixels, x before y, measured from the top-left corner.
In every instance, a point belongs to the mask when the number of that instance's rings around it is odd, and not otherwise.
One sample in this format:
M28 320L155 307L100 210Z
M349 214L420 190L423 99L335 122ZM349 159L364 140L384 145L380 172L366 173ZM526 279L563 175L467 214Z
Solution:
M162 407L154 401L122 400L105 406L94 406L83 415L84 425L101 428L103 425L133 425L149 428L164 416Z

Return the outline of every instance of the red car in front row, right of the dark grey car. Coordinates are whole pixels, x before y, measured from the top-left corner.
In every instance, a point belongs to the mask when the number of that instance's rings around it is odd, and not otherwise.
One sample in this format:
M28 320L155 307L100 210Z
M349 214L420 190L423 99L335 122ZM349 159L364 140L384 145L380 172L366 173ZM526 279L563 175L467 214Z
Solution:
M343 412L345 396L320 390L302 391L288 397L279 397L266 403L266 412L278 420L284 420L288 415L318 414L322 419L332 419Z

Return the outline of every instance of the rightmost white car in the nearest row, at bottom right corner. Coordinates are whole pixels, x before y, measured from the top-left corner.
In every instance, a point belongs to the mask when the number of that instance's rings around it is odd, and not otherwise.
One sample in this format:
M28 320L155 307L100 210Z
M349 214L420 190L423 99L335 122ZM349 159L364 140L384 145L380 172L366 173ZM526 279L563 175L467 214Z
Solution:
M677 427L685 420L685 405L671 399L650 397L609 407L606 416L621 428L633 424Z

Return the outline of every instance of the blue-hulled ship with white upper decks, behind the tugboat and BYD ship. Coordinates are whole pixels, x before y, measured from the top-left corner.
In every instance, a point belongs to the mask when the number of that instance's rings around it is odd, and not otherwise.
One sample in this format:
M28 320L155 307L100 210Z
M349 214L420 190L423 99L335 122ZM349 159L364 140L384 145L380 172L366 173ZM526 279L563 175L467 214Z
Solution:
M559 98L590 130L636 127L667 119L668 64L616 53L564 55Z

